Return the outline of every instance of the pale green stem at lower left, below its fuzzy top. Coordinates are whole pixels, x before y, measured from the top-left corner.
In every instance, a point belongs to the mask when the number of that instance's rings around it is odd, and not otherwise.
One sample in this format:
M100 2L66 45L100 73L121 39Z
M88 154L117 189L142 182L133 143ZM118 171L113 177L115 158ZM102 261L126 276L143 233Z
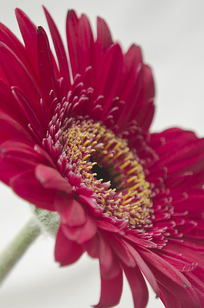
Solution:
M8 244L0 255L0 283L40 233L41 229L39 223L36 218L33 217Z

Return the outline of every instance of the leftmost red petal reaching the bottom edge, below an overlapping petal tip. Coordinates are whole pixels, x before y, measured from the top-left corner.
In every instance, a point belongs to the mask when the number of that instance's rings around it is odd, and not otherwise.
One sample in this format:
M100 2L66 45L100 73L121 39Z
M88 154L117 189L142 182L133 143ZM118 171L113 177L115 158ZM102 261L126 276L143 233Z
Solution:
M114 279L105 280L101 276L101 297L98 305L95 305L94 308L109 308L116 306L120 302L122 286L122 270Z

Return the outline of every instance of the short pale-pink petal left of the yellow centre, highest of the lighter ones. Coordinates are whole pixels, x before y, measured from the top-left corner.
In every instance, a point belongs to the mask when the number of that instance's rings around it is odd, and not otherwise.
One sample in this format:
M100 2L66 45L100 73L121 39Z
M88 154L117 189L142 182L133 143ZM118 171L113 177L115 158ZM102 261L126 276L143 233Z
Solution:
M35 176L45 188L65 191L67 194L70 194L72 191L72 187L69 182L52 167L48 167L46 165L36 166Z

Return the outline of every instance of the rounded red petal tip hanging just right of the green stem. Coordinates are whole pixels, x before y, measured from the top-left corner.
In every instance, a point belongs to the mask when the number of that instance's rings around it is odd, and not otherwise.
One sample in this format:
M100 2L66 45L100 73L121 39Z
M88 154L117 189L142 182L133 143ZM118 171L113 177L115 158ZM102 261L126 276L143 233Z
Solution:
M82 246L69 241L64 236L60 226L54 248L55 261L60 262L61 266L69 265L76 262L82 254Z

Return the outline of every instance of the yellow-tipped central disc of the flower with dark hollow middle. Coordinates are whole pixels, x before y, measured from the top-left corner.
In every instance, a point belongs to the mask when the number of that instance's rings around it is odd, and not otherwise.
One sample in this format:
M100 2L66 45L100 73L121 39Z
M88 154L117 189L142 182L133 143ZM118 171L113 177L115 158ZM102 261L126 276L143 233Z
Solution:
M100 122L79 118L63 131L62 144L70 172L92 189L103 216L125 220L129 229L151 223L150 184L125 139Z

